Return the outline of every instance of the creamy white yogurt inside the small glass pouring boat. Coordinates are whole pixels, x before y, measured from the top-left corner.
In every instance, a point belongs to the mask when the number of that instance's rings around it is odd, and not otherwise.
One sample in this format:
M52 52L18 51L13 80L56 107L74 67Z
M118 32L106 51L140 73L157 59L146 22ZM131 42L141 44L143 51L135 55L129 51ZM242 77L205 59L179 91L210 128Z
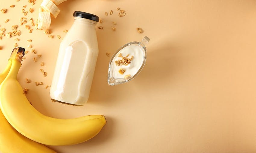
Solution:
M121 65L118 66L115 64L115 61L122 59L121 57L118 57L119 54L122 54L123 57L126 57L126 55L129 54L127 58L131 58L133 56L133 59L130 64ZM138 45L129 45L125 48L121 49L117 55L115 55L113 61L112 61L112 71L113 71L113 77L115 79L121 79L124 78L126 75L135 75L140 67L142 66L143 60L144 60L145 52L142 50L142 48ZM120 68L124 68L126 71L123 74L120 74L118 71Z

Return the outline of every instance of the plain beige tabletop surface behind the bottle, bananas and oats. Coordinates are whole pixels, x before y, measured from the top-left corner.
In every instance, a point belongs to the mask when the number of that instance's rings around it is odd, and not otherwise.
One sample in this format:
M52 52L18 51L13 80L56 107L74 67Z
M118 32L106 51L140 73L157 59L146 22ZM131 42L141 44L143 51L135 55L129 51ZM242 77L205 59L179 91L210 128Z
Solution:
M33 6L37 18L42 0ZM14 8L9 5L15 4ZM19 24L26 0L1 0L0 26ZM26 10L31 7L27 4ZM126 10L118 17L116 7ZM28 99L47 116L74 118L103 114L107 124L93 139L74 146L50 146L62 153L80 152L256 152L256 1L255 0L68 0L52 19L52 35L32 34L24 26L19 46L42 54L37 63L26 55L19 81L29 88ZM64 29L73 23L75 10L94 13L103 20L97 29L99 56L90 98L84 107L53 103L49 88ZM105 11L114 10L105 16ZM4 23L5 19L10 19ZM111 27L117 22L116 31ZM143 33L136 31L137 27ZM144 69L126 84L107 83L108 62L123 44L151 40ZM14 38L0 40L0 70L14 47ZM40 62L48 73L39 71ZM42 81L44 86L25 83Z

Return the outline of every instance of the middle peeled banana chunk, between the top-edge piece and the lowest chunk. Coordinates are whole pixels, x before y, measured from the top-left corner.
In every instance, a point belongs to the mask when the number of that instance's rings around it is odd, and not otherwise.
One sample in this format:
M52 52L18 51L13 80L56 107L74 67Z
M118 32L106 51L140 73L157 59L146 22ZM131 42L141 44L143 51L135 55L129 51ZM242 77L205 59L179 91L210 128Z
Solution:
M55 19L61 11L51 0L43 0L41 7L50 12Z

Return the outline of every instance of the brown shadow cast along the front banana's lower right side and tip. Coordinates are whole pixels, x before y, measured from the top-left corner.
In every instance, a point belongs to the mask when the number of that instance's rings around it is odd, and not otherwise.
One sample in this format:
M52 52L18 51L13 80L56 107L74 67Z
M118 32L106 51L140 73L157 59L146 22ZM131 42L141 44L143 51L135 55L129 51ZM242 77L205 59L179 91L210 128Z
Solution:
M101 129L101 131L92 139L76 144L76 145L70 145L70 146L48 146L51 149L54 149L58 153L61 152L81 152L81 150L85 150L86 148L91 148L95 146L99 146L100 144L104 144L107 142L107 140L111 139L111 135L113 135L115 129L114 129L114 119L106 116L107 123L106 125ZM87 152L87 151L84 151Z

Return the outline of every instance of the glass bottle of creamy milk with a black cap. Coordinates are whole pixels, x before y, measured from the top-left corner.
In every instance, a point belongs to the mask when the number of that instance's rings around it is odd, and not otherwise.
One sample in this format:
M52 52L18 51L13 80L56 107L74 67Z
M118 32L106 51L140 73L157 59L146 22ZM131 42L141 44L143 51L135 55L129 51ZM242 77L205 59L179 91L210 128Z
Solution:
M98 57L95 25L99 17L75 11L74 23L60 44L50 89L56 102L83 105L87 102Z

